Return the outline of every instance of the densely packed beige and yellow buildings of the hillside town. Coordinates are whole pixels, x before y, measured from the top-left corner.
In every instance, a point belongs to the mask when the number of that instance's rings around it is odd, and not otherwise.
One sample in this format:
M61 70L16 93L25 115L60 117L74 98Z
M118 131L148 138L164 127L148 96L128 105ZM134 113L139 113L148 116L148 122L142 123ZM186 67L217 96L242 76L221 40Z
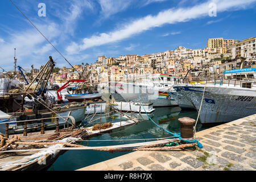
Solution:
M75 64L73 68L55 68L49 81L64 83L71 79L78 79L80 73L86 69L90 72L89 80L92 84L115 80L123 82L133 80L138 75L163 73L184 77L189 71L203 72L204 77L210 75L221 76L225 70L239 68L256 68L255 37L243 40L211 38L207 40L203 49L190 49L178 46L172 51L157 52L145 55L120 55L118 57L98 56L96 63ZM244 63L242 64L242 60ZM31 66L26 76L34 77L39 69ZM42 67L41 67L42 68ZM22 75L16 70L9 74Z

